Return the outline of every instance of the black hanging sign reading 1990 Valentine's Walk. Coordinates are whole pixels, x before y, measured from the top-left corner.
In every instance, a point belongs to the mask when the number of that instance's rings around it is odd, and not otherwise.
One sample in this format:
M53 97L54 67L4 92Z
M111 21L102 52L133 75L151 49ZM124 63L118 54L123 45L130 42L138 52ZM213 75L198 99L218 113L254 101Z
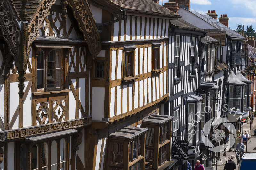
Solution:
M172 147L172 159L188 160L188 141L175 139Z

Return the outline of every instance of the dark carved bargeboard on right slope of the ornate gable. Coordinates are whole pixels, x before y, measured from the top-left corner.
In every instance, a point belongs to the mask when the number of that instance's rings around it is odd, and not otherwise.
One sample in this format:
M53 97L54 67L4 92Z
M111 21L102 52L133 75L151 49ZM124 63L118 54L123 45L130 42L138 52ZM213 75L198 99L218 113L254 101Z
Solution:
M84 0L68 0L68 2L78 21L79 28L84 34L84 40L87 41L92 59L95 59L101 51L101 41L98 26L92 16L89 4Z

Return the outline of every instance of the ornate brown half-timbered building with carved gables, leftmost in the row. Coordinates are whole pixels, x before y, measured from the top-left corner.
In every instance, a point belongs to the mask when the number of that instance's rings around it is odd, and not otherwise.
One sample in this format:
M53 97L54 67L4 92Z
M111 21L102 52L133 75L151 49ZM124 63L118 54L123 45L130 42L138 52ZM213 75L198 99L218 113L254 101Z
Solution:
M101 51L89 4L0 4L1 169L83 169Z

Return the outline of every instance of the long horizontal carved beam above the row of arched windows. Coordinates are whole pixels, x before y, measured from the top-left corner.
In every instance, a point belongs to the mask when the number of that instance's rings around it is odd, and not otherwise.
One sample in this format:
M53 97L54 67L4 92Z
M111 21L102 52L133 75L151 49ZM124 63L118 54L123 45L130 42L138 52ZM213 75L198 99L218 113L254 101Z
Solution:
M39 125L38 127L29 127L16 130L9 130L0 132L0 137L6 135L4 140L17 139L21 137L32 136L36 134L42 134L46 132L59 131L63 129L72 129L82 126L89 126L92 123L92 117L80 118L72 121L66 121L62 123L50 123ZM4 141L2 140L2 141Z

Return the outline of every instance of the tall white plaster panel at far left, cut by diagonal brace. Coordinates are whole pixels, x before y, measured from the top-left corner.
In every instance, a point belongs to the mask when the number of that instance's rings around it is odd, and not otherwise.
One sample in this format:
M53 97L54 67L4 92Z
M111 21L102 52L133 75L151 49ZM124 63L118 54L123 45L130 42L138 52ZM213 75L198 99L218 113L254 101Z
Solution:
M19 105L18 84L19 84L19 82L11 82L10 83L10 89L11 89L10 90L10 101L12 101L11 102L12 104L11 104L11 107L10 107L10 122L12 120L12 117L13 117L18 105ZM18 116L15 120L16 121L15 121L12 129L19 128L19 118L18 118Z

